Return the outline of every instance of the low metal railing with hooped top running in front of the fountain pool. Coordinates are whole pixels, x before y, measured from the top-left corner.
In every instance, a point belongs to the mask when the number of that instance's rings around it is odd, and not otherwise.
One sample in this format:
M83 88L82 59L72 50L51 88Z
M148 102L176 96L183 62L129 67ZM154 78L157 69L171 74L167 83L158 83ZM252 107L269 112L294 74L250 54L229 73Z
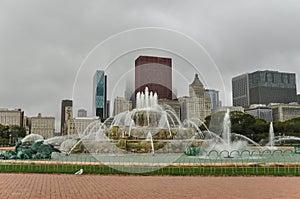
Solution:
M183 154L53 154L45 160L0 160L0 172L124 175L300 175L293 150L210 151Z

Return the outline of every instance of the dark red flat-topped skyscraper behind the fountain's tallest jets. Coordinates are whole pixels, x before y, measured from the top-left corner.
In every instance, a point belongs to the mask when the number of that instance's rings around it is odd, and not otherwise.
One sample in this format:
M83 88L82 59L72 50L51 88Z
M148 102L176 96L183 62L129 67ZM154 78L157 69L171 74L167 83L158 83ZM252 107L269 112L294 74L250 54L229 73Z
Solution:
M135 96L138 92L156 92L159 99L172 99L172 59L139 56L135 60Z

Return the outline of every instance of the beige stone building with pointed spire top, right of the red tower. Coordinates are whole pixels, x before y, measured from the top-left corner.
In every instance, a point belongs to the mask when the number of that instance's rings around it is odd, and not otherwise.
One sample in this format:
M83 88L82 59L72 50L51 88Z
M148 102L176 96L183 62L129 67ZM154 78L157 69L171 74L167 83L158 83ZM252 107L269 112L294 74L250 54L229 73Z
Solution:
M179 98L181 121L185 119L204 121L205 117L211 114L211 101L205 98L205 88L198 74L189 85L189 95L189 97Z

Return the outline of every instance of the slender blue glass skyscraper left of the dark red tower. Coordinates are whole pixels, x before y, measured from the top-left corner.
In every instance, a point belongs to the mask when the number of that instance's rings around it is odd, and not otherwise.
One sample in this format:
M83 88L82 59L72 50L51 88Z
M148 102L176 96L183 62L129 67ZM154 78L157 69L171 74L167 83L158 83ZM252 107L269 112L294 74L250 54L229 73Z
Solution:
M107 76L104 71L97 70L93 82L93 111L102 121L108 117Z

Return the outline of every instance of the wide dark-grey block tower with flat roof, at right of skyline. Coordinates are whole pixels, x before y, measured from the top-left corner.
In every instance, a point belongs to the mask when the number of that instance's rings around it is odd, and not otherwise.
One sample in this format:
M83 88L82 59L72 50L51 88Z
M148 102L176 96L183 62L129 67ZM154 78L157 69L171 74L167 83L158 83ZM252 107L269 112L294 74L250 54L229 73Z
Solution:
M232 79L234 106L296 102L296 75L278 71L256 71Z

